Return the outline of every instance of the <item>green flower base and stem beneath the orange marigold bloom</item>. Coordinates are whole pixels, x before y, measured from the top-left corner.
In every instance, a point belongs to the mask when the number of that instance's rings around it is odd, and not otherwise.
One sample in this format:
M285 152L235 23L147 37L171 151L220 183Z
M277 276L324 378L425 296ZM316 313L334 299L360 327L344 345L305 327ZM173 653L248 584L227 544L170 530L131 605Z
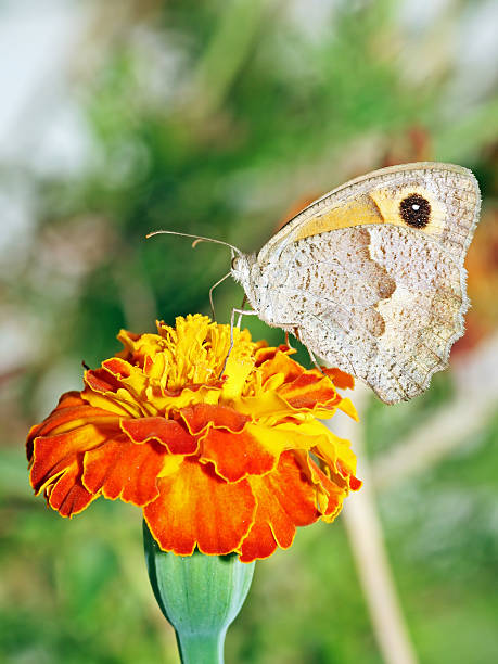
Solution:
M247 596L254 563L235 554L162 551L145 522L143 544L152 589L175 628L182 663L222 664L225 635Z

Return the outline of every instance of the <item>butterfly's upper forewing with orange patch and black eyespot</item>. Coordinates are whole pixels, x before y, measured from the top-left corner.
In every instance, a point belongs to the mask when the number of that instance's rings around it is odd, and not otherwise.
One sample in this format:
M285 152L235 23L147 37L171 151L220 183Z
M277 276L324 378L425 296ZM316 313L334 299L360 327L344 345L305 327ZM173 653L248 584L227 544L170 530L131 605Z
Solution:
M371 224L412 228L462 261L480 206L477 181L467 168L436 162L391 166L350 180L311 203L265 244L258 261L266 264L297 240Z

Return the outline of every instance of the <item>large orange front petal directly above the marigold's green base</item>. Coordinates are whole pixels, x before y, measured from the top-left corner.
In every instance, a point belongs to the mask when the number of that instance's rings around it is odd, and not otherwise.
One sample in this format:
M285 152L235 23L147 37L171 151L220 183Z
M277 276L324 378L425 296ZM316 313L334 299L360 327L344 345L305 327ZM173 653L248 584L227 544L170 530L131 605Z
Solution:
M228 484L213 469L187 458L179 471L158 481L159 497L143 509L165 551L224 556L239 548L253 523L256 500L245 480Z

